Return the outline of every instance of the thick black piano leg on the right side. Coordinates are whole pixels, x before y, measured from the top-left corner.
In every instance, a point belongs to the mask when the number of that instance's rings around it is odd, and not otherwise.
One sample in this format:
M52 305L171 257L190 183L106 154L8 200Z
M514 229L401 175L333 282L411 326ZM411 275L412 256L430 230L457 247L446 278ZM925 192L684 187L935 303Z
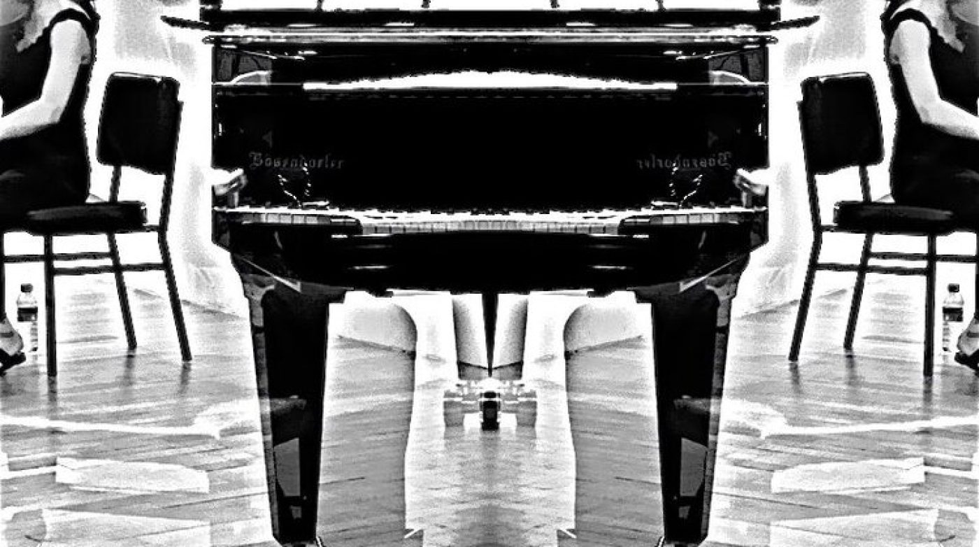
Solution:
M677 292L635 291L653 315L664 544L708 533L731 303L743 262Z

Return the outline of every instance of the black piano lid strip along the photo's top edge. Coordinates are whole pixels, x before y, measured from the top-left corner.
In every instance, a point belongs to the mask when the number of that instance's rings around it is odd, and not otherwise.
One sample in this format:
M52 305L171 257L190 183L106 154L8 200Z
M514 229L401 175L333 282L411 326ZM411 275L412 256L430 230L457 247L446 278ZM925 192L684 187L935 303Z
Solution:
M770 30L781 0L201 0L211 30L731 28ZM173 22L170 22L173 23Z

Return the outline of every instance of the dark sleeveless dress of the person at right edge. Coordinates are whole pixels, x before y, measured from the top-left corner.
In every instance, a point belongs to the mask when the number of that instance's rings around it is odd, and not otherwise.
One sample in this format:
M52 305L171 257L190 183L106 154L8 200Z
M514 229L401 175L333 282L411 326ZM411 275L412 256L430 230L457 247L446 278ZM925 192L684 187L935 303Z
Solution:
M959 108L976 114L979 99L979 31L965 26L959 39L963 51L945 41L921 12L905 9L885 14L885 52L898 25L916 21L928 27L928 56L941 96ZM891 161L891 188L898 203L938 206L960 216L979 218L979 141L956 137L921 122L911 102L908 83L900 65L887 60L897 127Z

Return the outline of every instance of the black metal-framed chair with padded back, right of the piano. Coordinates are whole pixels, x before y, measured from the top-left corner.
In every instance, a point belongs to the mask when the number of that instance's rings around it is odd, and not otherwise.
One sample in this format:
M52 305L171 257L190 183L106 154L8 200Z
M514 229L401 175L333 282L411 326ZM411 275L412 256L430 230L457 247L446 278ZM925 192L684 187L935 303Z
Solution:
M868 74L860 72L808 78L802 83L802 92L799 114L814 237L789 359L796 361L799 358L799 346L813 297L816 271L857 272L857 283L843 342L848 353L853 350L866 274L923 275L926 285L924 375L931 376L934 369L936 264L940 261L975 261L971 254L939 254L937 240L939 236L965 228L956 224L954 215L946 210L871 200L867 167L883 160L884 148L876 91ZM816 177L846 167L858 168L862 200L837 203L833 223L823 224L819 213ZM862 234L860 262L821 262L819 253L823 235L827 233ZM924 237L927 240L927 251L872 251L874 236L878 234ZM923 261L924 266L870 264L870 260Z

